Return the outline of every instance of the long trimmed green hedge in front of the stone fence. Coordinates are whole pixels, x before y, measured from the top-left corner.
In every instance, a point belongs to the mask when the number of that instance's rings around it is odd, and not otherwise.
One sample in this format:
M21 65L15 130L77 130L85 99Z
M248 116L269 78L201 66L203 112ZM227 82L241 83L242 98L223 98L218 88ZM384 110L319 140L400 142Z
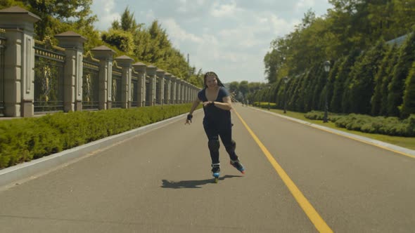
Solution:
M191 104L0 121L0 169L189 112Z

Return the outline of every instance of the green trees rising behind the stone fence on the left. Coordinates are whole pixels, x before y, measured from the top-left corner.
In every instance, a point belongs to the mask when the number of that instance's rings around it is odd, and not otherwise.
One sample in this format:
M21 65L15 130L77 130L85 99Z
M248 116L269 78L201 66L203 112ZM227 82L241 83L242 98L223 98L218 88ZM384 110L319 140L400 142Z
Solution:
M35 23L35 39L43 40L66 31L73 31L87 38L84 51L106 45L116 55L128 55L136 61L173 74L189 83L202 87L202 69L191 67L185 55L172 43L157 20L146 27L134 19L134 13L125 8L120 20L108 25L108 30L99 31L94 27L98 18L91 11L92 0L0 0L0 9L20 6L38 15Z

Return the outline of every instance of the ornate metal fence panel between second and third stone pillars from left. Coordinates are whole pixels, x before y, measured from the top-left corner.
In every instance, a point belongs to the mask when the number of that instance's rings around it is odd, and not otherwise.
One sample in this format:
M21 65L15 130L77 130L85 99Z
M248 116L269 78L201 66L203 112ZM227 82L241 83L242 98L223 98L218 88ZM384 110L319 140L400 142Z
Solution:
M84 55L82 77L82 109L98 109L99 107L99 60L92 58L91 53Z

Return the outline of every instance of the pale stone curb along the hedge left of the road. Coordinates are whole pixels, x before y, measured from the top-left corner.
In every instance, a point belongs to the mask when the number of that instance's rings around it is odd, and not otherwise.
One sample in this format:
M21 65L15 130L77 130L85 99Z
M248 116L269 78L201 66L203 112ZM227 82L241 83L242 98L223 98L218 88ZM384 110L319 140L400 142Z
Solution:
M199 111L200 110L196 110L194 113L197 113ZM91 152L94 152L98 149L104 149L108 147L108 145L113 145L117 142L121 142L123 140L132 138L136 135L142 135L149 131L153 131L156 128L160 128L162 126L167 126L167 124L172 124L176 121L185 119L186 116L187 116L187 113L181 114L179 116L174 116L170 119L158 121L153 124L149 124L147 126L142 126L140 128L135 128L131 131L119 133L117 135L112 135L110 137L96 140L94 142L89 142L79 147L73 147L71 149L66 149L63 152L58 152L56 154L51 154L46 157L41 157L39 159L25 162L23 164L18 164L15 166L1 169L0 170L0 187L4 185L9 185L12 182L15 182L18 180L30 178L30 176L32 175L36 175L48 169L60 166L73 159L84 157L85 155Z

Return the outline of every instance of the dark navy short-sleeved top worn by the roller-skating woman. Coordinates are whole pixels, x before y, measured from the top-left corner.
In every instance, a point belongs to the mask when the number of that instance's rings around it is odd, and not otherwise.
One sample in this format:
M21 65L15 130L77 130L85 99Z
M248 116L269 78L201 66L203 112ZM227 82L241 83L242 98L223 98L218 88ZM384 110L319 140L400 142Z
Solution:
M217 94L215 102L223 102L223 98L226 96L229 96L229 92L226 91L226 88L223 86L219 86L219 93ZM203 88L202 91L199 91L198 98L202 102L208 101L208 98L206 98L206 88ZM203 112L205 112L203 121L231 122L231 111L229 110L220 109L214 105L208 105L208 107L203 107Z

